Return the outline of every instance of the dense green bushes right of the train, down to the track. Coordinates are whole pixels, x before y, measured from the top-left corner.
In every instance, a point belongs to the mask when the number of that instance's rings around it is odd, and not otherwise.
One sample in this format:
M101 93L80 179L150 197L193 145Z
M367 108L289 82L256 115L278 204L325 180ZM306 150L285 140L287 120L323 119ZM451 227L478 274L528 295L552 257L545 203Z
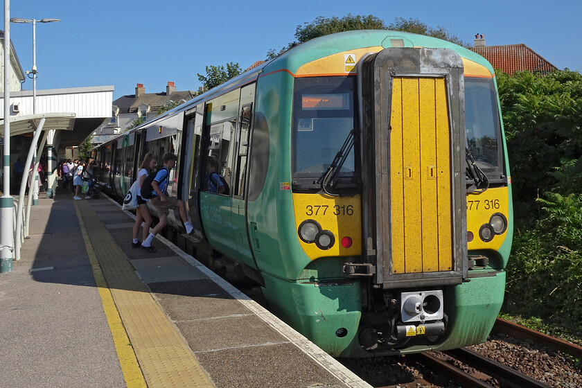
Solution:
M582 76L568 70L496 76L517 231L504 311L580 339Z

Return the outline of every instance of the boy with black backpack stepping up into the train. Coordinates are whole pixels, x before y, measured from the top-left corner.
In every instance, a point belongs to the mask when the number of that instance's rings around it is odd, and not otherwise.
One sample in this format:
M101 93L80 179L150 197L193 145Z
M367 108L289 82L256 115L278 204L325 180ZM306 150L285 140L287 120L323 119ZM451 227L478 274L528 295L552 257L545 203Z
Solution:
M154 181L152 182L152 205L157 210L159 222L152 229L152 233L143 240L141 247L148 252L156 252L155 247L152 246L152 240L155 238L157 233L163 229L168 223L168 214L170 209L178 208L180 213L180 218L184 222L184 227L186 228L186 233L190 234L194 227L188 221L188 216L186 215L186 206L184 206L184 201L178 200L176 197L170 197L168 195L168 180L170 178L170 170L176 166L177 156L171 152L167 152L161 158L164 162L164 168L161 168L156 174Z

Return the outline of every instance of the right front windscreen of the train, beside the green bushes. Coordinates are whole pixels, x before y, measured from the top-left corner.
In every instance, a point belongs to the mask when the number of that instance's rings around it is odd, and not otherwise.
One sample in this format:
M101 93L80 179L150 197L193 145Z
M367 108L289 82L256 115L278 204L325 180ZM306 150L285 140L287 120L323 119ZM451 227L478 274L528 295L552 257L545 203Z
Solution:
M501 127L493 79L465 78L467 145L484 172L502 171Z

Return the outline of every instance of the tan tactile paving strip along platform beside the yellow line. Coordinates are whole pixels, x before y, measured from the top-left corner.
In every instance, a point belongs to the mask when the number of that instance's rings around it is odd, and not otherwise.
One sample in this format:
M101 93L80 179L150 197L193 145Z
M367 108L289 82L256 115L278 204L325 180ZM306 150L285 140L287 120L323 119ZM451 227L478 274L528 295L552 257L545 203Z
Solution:
M111 243L112 236L91 205L78 201L75 207L83 236L87 236L87 251L91 247L94 256L98 258L99 267L107 280L118 316L121 317L148 387L214 387L188 344L135 274L127 256L116 244ZM108 314L105 305L103 301L105 313ZM121 347L127 343L121 340ZM125 364L125 355L118 353L118 357L122 370L128 371L127 375L125 371L123 373L127 387L130 387L134 374L129 371L133 369L129 367L130 363Z

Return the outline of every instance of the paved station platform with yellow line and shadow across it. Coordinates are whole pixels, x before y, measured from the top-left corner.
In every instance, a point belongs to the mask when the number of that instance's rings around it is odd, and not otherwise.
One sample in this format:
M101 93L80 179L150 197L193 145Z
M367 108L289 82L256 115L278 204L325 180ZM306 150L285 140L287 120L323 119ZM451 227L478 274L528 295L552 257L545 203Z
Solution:
M168 240L132 249L132 217L39 198L0 274L1 387L371 387Z

